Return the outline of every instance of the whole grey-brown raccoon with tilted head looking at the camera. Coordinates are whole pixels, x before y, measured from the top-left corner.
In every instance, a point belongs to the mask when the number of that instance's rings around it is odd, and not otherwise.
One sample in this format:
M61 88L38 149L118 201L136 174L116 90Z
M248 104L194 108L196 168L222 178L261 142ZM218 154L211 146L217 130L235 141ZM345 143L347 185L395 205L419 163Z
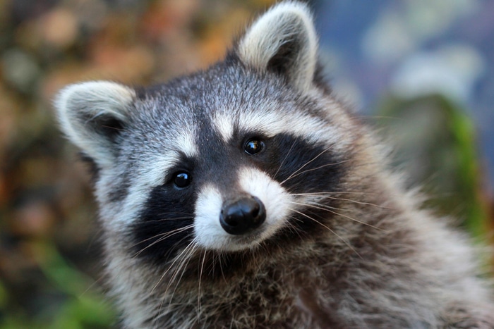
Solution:
M123 328L494 328L474 248L421 207L279 3L207 70L63 89Z

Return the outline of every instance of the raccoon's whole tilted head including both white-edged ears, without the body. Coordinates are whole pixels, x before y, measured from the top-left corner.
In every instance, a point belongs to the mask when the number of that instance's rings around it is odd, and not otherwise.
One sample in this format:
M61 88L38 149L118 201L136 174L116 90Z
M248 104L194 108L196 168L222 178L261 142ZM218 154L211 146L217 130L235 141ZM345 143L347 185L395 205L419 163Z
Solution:
M139 89L66 87L59 121L98 168L116 248L161 262L289 243L327 225L352 136L316 67L311 14L287 2L203 72Z

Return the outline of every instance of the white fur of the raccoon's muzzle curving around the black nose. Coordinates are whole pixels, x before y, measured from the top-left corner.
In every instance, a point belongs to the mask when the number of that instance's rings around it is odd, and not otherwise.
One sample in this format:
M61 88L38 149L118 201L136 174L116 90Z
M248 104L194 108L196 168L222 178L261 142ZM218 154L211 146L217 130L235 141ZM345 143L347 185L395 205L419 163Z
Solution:
M207 249L236 251L254 247L271 237L285 223L289 213L291 197L278 182L255 168L239 171L239 182L243 190L260 199L266 210L266 221L253 235L230 235L219 223L223 197L219 190L207 185L200 191L195 204L195 241Z

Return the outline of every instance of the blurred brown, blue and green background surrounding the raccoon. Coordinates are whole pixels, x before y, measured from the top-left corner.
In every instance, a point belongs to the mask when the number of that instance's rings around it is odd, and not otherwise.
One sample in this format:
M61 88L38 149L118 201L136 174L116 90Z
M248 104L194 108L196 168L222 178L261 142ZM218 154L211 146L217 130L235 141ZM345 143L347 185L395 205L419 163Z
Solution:
M0 329L115 321L92 190L56 128L56 91L205 68L273 2L0 0ZM310 4L338 97L394 145L393 165L428 206L492 244L494 2Z

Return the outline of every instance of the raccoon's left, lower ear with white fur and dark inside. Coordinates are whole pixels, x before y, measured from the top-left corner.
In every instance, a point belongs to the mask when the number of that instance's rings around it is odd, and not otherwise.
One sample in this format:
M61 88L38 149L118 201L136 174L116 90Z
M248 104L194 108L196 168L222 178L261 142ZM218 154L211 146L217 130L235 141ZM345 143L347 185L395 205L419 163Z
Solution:
M115 82L69 85L55 100L61 129L99 166L114 159L116 135L128 120L135 91Z

